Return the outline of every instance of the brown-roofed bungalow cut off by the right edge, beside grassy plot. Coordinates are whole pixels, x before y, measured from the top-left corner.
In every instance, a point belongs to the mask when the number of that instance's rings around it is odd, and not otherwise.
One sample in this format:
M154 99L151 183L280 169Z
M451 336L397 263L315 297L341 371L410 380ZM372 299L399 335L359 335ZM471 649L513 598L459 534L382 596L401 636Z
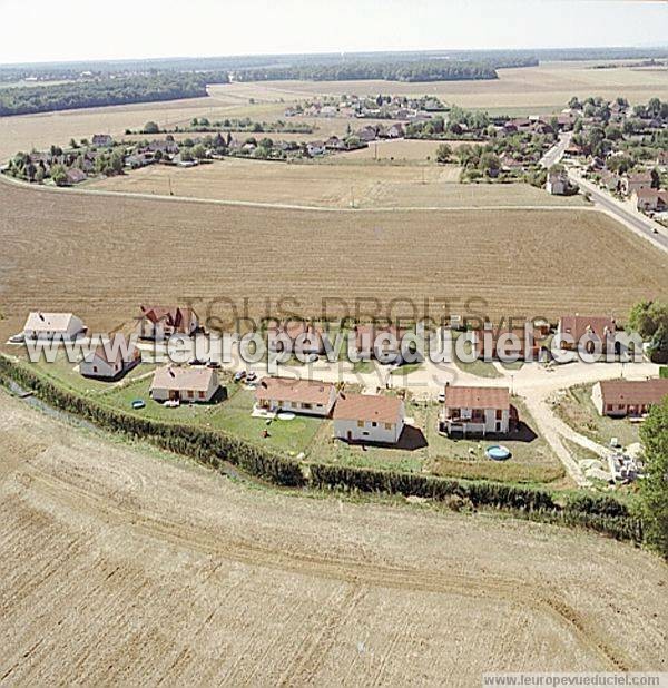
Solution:
M600 415L639 416L668 396L668 380L606 380L593 385L591 401Z

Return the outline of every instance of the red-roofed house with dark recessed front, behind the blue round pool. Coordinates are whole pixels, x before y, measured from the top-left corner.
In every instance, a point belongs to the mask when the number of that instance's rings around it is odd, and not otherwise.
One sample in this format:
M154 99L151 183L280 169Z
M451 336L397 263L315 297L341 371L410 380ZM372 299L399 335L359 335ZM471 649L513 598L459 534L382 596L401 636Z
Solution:
M448 435L507 434L514 409L508 387L460 387L445 385L439 432Z

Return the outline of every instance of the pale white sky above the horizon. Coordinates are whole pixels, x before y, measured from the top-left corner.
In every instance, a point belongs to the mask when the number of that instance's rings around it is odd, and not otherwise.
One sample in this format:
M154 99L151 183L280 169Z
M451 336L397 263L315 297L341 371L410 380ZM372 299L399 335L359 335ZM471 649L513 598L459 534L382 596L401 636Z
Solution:
M666 0L0 0L0 63L658 45Z

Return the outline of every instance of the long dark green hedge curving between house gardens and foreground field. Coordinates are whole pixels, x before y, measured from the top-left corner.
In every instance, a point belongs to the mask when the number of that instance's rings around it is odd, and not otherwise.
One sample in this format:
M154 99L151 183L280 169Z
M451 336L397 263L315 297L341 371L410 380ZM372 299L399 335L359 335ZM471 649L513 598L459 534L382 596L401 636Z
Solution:
M216 470L220 470L223 463L227 462L249 475L276 485L401 494L435 501L456 498L473 508L493 508L536 520L580 525L620 540L642 540L640 520L610 495L573 493L569 494L562 504L553 492L523 485L323 463L301 464L223 432L154 421L108 407L63 390L2 355L0 379L13 381L21 387L31 390L47 404L105 430L149 441L160 449L195 458Z

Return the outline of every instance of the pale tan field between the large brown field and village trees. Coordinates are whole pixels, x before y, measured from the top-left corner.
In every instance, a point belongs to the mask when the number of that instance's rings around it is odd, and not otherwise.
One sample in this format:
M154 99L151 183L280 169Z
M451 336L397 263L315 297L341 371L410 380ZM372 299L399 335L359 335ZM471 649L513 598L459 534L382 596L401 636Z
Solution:
M406 141L413 144L414 141ZM419 145L422 141L415 141ZM151 165L87 188L216 200L350 208L582 206L581 196L550 196L527 184L459 184L460 168L391 165L347 155L323 163L227 158L197 168Z

